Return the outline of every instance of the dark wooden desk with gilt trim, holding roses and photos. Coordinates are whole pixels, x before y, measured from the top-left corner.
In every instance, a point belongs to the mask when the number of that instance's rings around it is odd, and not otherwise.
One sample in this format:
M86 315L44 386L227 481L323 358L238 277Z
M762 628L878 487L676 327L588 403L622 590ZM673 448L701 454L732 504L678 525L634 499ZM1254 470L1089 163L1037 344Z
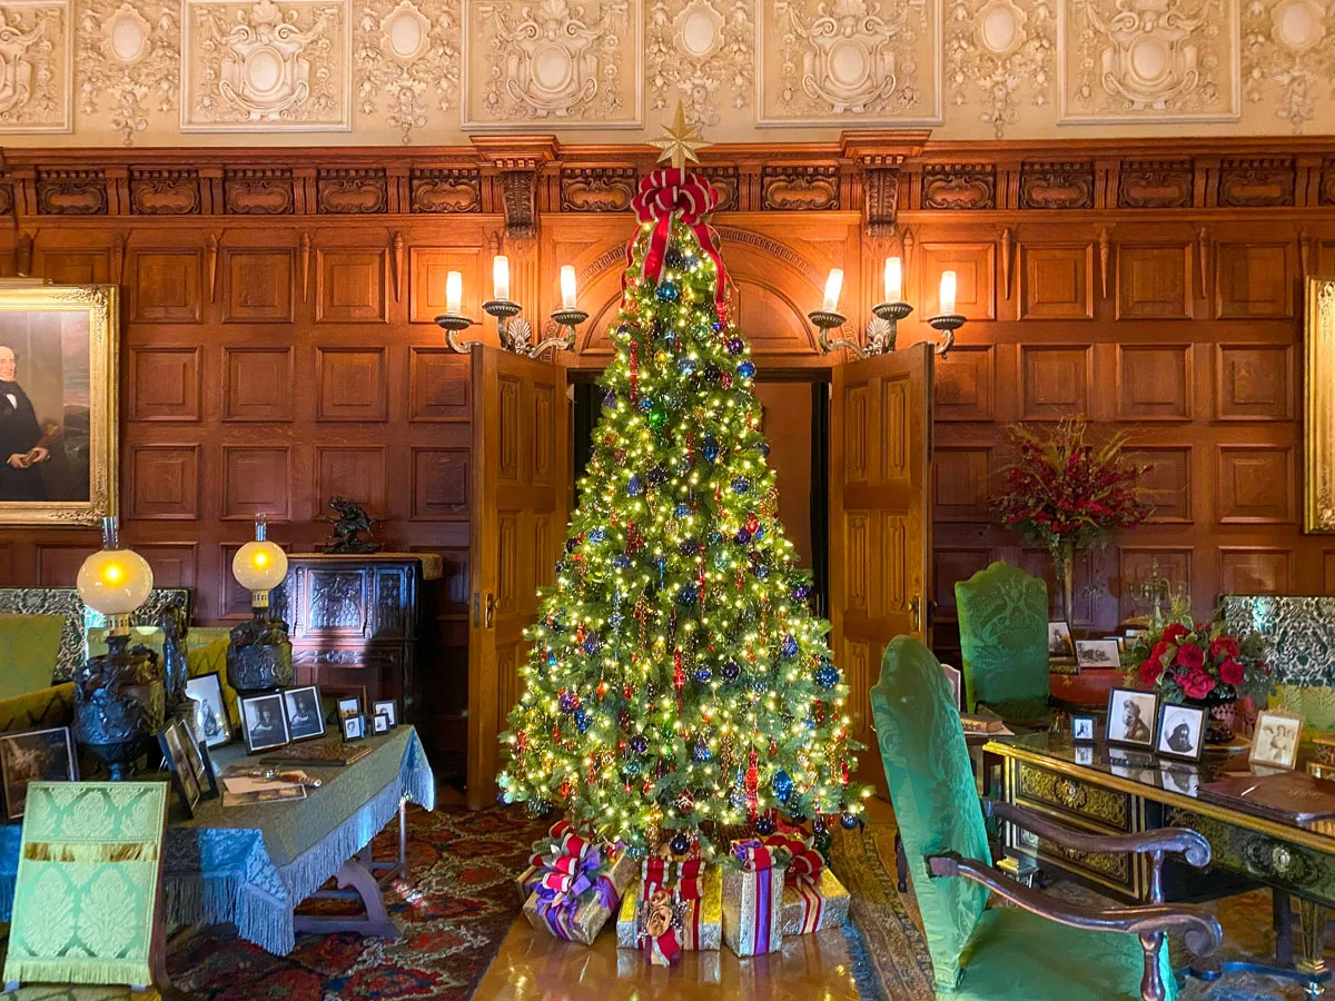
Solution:
M1200 798L1199 786L1224 770L1248 771L1246 753L1207 753L1193 766L1101 742L1072 745L1047 733L993 741L984 751L1004 762L1007 802L1068 826L1100 834L1153 827L1199 831L1210 841L1212 869L1299 898L1300 934L1294 965L1312 982L1319 984L1328 976L1323 952L1327 912L1335 908L1335 822L1300 827L1250 814L1246 807L1226 807ZM1111 896L1147 900L1149 874L1143 856L1063 850L1007 826L1008 852L1093 884ZM1226 884L1216 886L1214 893L1191 893L1181 886L1167 884L1165 897L1219 897L1242 889L1242 885L1230 889Z

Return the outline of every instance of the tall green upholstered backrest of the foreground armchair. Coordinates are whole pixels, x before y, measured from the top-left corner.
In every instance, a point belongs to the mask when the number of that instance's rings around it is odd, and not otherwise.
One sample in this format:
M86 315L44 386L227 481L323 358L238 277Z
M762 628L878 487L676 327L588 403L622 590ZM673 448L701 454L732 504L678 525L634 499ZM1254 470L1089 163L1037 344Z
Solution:
M872 714L936 982L949 989L988 892L967 880L928 877L924 858L959 852L991 862L992 854L960 711L945 671L917 639L896 637L885 647Z

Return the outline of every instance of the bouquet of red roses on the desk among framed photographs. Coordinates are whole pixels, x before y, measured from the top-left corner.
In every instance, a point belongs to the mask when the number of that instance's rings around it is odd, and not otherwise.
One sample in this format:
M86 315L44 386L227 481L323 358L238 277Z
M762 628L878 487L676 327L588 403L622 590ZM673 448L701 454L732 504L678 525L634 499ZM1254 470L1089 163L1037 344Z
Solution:
M1256 705L1275 690L1266 663L1270 641L1260 633L1236 635L1222 619L1191 615L1143 634L1127 654L1140 681L1168 702L1230 702L1251 695Z

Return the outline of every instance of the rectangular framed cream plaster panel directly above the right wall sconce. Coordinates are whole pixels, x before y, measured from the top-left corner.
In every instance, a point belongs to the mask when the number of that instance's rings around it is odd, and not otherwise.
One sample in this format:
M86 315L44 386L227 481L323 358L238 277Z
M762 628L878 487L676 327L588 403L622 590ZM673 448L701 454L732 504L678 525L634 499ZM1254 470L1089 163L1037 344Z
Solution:
M762 4L760 124L939 124L941 1Z

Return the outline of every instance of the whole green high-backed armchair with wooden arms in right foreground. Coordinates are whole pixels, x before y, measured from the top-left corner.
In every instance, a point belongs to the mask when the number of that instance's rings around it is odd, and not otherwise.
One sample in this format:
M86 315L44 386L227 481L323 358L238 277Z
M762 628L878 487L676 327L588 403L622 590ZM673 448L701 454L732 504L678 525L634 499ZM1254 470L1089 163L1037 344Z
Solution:
M1214 917L1165 906L1159 890L1165 853L1183 853L1197 868L1210 862L1200 834L1099 837L1007 803L980 805L945 674L917 639L897 637L886 647L872 713L939 997L1161 1001L1176 994L1165 933L1184 934L1202 956L1219 946ZM991 864L985 814L1081 852L1148 854L1152 902L1096 910L1020 885ZM989 890L1015 906L987 909Z

